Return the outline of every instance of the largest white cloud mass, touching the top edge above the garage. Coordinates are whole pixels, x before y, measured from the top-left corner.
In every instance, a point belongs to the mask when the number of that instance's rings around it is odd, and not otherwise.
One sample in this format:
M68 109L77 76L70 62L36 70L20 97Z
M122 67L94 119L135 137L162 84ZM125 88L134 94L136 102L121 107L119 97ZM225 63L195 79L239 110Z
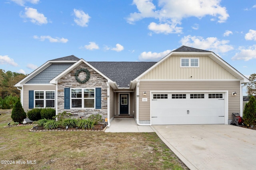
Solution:
M148 26L156 33L180 33L182 27L177 25L181 24L183 18L208 15L213 17L211 20L217 18L222 23L229 17L226 8L220 5L220 0L158 0L159 10L156 10L153 0L133 0L133 4L137 6L138 12L130 13L127 22L134 24L144 18L158 19L158 24L150 23Z

